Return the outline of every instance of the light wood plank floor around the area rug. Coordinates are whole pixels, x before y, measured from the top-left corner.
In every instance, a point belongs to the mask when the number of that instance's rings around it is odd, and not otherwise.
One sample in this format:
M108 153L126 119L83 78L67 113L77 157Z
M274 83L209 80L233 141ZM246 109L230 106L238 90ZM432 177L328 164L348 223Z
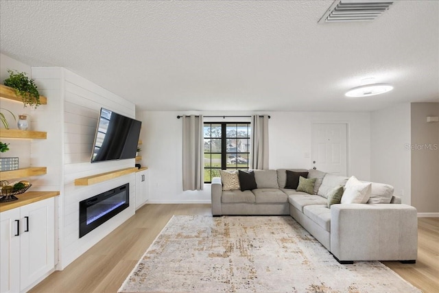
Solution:
M117 292L172 215L211 215L210 204L146 204L119 228L30 292ZM423 292L439 292L439 218L418 220L416 264L386 266Z

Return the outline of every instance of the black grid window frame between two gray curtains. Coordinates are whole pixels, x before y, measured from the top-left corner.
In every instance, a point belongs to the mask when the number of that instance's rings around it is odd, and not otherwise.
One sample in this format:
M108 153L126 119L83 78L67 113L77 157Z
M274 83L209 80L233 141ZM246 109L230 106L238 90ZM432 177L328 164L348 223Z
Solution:
M227 136L227 126L230 127L230 124L234 124L235 128L236 128L236 132L235 132L235 136L234 137L228 137ZM246 137L239 137L238 136L238 127L239 124L245 124L247 126L247 136ZM212 137L212 133L209 137L204 136L204 127L205 126L209 126L212 127L212 125L217 125L217 126L221 126L221 137ZM219 176L219 174L215 174L212 175L212 170L226 170L226 169L250 169L250 122L249 121L228 121L228 122L204 122L203 124L203 139L204 141L206 139L221 139L221 152L205 152L206 150L206 146L204 146L203 148L203 158L205 158L205 154L211 154L210 156L210 162L209 162L209 167L206 167L206 163L203 164L203 172L204 172L204 183L209 184L212 183L211 178ZM241 152L238 150L238 146L237 146L237 142L235 144L235 152L228 152L228 139L246 139L247 140L247 146L246 146L246 152ZM230 147L229 147L230 148ZM212 150L212 144L211 144L211 150ZM221 154L221 164L219 167L213 167L212 166L212 154ZM241 156L244 155L244 158ZM246 158L245 158L246 156ZM230 166L232 165L230 163L230 160L233 160L233 158L235 159L235 166ZM239 163L239 159L241 158L242 161L241 163ZM230 159L230 160L228 160ZM246 163L243 163L246 160ZM243 166L244 165L244 166ZM206 169L210 169L211 172L206 172ZM206 173L209 174L209 178L206 178Z

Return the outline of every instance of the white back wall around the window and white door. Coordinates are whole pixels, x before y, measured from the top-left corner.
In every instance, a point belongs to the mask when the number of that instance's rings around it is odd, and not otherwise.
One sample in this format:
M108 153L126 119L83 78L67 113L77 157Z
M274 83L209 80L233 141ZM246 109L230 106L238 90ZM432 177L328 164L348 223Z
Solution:
M182 121L176 118L177 115L182 114L200 113L150 111L137 113L137 119L143 121L141 164L149 169L150 203L211 202L210 185L204 185L203 191L182 191ZM246 112L203 112L202 114L250 115ZM257 114L271 115L270 169L310 168L311 159L305 158L305 152L311 152L312 122L337 121L345 122L349 127L348 175L355 174L361 180L370 180L370 113L260 112Z

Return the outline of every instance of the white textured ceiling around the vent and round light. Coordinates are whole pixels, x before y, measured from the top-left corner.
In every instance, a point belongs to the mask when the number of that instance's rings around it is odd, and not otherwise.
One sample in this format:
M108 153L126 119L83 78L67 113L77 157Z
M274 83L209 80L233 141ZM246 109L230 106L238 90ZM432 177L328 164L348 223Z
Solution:
M376 110L439 101L439 2L327 23L333 1L0 1L1 53L141 110ZM344 93L364 78L394 91Z

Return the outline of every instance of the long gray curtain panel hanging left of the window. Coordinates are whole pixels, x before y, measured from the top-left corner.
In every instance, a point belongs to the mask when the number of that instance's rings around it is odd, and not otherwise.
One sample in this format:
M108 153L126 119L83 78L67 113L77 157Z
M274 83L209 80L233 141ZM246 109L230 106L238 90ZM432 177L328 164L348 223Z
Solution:
M183 191L204 185L203 117L183 115Z

